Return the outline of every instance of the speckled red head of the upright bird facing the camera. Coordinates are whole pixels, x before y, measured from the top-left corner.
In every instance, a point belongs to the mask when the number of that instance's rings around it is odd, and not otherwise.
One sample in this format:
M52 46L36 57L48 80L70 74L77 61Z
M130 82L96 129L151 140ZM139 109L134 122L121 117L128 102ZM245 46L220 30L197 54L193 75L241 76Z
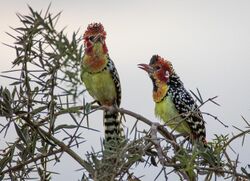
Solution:
M108 52L105 43L106 32L101 23L91 23L88 25L87 30L83 35L85 51L90 53L93 50L95 44L102 44L104 53Z

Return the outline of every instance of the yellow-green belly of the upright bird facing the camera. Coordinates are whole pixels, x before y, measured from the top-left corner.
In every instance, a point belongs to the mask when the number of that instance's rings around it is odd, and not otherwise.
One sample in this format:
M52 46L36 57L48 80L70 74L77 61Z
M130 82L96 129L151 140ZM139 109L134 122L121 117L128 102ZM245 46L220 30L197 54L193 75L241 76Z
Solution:
M82 80L89 94L102 105L111 105L116 100L115 84L107 70L93 74L85 72Z

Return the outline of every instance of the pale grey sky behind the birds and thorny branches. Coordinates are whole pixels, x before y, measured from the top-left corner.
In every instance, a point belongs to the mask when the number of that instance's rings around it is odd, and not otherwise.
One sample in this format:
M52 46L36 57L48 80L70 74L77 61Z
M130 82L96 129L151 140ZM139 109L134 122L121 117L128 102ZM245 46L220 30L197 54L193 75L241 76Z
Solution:
M250 120L250 1L2 0L0 41L12 43L5 32L10 31L9 26L18 26L15 13L27 14L27 4L45 10L50 2L52 12L63 11L58 30L66 26L70 34L79 28L84 32L91 22L104 25L109 54L120 74L122 107L158 121L151 80L137 64L148 63L153 54L159 54L173 63L187 89L199 88L204 99L219 96L221 107L208 104L202 111L217 115L230 128L206 117L208 140L214 134L231 134L235 131L232 125L245 126L241 115ZM0 45L0 71L11 68L14 56L12 49ZM234 145L242 154L240 160L250 163L250 146ZM64 165L61 169L72 168ZM79 178L73 169L73 176L59 171L62 174L55 180Z

